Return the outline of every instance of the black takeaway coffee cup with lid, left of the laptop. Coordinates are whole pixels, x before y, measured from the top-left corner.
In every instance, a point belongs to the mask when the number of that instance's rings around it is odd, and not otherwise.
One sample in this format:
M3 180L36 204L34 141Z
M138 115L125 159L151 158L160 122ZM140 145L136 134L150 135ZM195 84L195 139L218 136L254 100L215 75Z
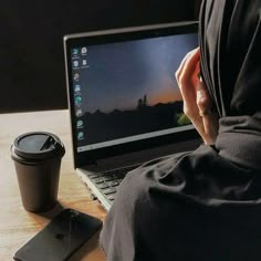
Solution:
M42 212L55 206L64 153L63 143L51 133L27 133L15 138L11 157L27 210Z

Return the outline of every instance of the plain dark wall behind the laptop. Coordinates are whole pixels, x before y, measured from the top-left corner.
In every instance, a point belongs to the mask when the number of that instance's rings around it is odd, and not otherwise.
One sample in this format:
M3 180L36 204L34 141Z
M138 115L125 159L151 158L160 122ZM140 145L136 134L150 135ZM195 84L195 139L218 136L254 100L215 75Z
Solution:
M63 35L90 30L197 20L199 1L2 1L0 113L67 106Z

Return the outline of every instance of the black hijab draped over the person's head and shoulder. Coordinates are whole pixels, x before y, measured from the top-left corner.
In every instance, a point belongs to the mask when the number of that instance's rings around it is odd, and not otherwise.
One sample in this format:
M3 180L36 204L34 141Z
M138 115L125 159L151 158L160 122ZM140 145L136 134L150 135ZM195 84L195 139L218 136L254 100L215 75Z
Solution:
M261 169L261 0L203 0L201 75L220 116L219 154Z

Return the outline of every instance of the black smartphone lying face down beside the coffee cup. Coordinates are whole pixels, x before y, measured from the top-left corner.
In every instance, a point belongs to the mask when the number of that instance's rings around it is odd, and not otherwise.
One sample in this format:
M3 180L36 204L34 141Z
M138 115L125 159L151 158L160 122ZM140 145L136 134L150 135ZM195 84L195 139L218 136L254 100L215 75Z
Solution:
M13 259L18 261L67 260L101 226L102 221L97 218L65 209L19 249Z

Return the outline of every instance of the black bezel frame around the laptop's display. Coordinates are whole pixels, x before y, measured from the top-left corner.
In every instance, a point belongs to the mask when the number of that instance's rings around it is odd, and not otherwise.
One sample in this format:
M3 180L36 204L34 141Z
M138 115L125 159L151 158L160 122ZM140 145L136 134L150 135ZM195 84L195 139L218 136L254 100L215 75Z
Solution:
M76 118L74 106L74 94L72 90L72 63L71 50L73 48L86 46L92 44L106 44L121 41L138 40L146 38L157 38L164 35L176 35L186 33L197 33L198 22L179 22L179 23L163 23L134 28L112 29L104 31L86 32L70 34L64 36L64 58L66 72L66 88L67 101L71 121L71 136L73 146L74 168L80 168L88 164L95 164L97 159L113 157L121 154L127 154L135 150L147 149L150 147L163 146L169 143L181 143L184 140L198 138L198 133L195 128L184 130L180 133L168 134L159 137L147 138L143 140L130 142L126 144L114 145L105 148L97 148L87 152L77 153L76 140Z

